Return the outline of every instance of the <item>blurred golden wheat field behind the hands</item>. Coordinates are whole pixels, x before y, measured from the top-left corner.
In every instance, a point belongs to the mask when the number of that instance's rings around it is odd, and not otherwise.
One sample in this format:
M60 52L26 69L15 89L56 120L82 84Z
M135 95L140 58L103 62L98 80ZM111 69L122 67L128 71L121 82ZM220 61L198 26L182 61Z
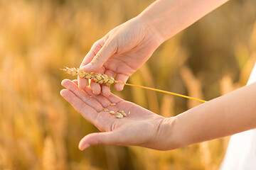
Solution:
M90 147L98 130L60 95L60 69L152 0L0 0L0 169L218 169L228 137L160 152ZM205 100L244 86L256 59L256 1L232 0L164 42L129 83ZM200 103L125 87L114 94L165 117ZM216 106L218 107L218 106Z

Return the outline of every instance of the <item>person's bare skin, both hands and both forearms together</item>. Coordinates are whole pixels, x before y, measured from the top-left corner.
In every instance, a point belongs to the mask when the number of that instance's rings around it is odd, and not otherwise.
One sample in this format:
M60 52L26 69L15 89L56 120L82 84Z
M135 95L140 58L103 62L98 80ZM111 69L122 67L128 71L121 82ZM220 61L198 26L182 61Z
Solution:
M126 82L171 36L224 4L227 0L159 0L139 16L114 28L95 42L81 68ZM65 98L86 120L102 132L86 135L79 148L91 145L136 145L151 149L176 149L196 142L256 128L256 83L215 98L175 117L164 118L110 93L108 86L86 79L62 81ZM122 90L122 84L114 88ZM101 93L102 92L102 93ZM116 106L109 106L117 103ZM118 119L103 111L119 109L130 114Z

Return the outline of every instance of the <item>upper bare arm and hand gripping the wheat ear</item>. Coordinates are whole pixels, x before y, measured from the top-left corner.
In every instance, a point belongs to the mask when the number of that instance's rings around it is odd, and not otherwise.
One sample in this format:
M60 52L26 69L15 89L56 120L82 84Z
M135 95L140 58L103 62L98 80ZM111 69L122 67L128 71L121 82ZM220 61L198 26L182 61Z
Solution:
M158 0L139 16L110 30L92 48L82 61L85 72L105 73L126 82L165 40L228 0ZM85 89L87 80L78 77L78 86ZM92 81L94 94L110 95L109 86ZM121 91L122 84L114 89Z

